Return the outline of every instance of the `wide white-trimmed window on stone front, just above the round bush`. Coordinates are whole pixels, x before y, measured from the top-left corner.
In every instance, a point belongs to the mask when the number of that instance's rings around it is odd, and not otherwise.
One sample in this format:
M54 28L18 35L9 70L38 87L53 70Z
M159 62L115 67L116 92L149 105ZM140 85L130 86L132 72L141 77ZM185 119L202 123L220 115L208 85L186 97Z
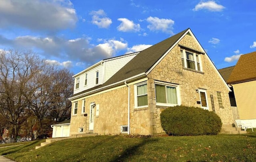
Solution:
M178 105L177 85L155 83L157 105Z

